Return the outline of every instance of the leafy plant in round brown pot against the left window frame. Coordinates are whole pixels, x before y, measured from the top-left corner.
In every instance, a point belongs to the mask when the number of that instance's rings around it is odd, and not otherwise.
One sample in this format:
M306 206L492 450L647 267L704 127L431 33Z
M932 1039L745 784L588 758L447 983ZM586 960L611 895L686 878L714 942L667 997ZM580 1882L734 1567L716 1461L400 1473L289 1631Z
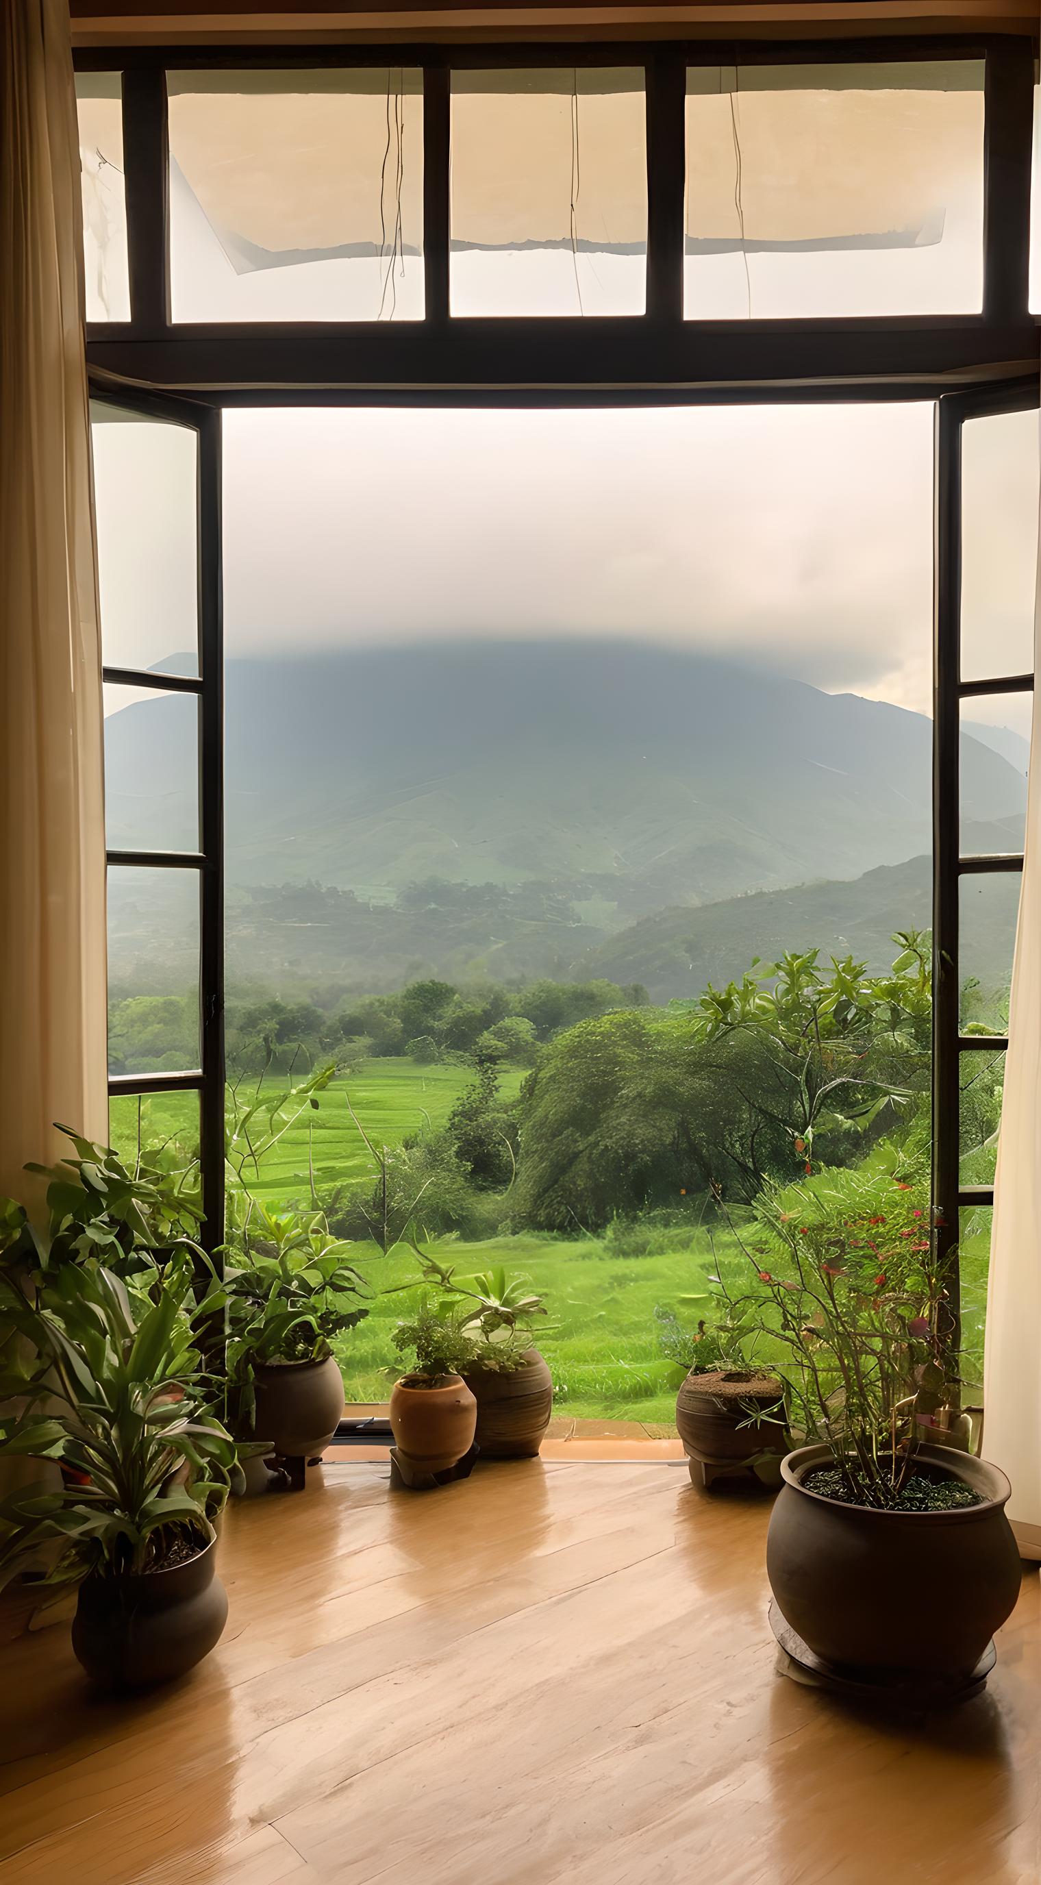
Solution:
M321 1212L277 1216L251 1199L211 1291L228 1314L234 1427L287 1459L321 1455L343 1414L332 1338L368 1316L347 1250Z

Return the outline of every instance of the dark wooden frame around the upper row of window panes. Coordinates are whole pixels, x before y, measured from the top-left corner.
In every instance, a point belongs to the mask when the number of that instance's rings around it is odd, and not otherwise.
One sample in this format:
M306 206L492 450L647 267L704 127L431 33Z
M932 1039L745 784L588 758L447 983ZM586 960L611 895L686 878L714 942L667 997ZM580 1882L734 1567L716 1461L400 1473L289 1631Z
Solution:
M172 322L166 68L313 70L407 64L422 72L426 315L409 322ZM698 320L683 311L685 104L688 66L984 62L984 290L969 315ZM971 377L1035 358L1028 307L1035 40L879 38L817 41L609 41L364 47L134 47L75 55L121 72L130 320L91 322L96 368L141 383L202 386L530 385L735 386L839 377ZM647 303L641 315L449 313L453 70L643 66L647 100ZM307 343L304 379L300 343Z

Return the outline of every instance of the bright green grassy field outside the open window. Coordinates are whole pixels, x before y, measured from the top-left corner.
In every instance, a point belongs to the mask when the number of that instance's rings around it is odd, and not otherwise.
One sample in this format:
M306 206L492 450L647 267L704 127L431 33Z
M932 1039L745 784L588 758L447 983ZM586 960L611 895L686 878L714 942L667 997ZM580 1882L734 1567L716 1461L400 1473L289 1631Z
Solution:
M504 1093L511 1095L524 1078L522 1069L505 1069ZM272 1148L260 1178L249 1188L270 1205L309 1203L309 1157L317 1189L330 1191L349 1178L372 1171L372 1159L347 1112L347 1095L366 1133L377 1144L396 1144L405 1133L447 1118L458 1093L470 1084L468 1067L419 1067L407 1059L372 1059L336 1082L321 1097L319 1112L307 1108ZM277 1091L277 1084L270 1084ZM145 1144L175 1137L183 1150L198 1146L196 1101L185 1093L117 1099L111 1105L111 1137L128 1159L138 1144L138 1105ZM966 1376L979 1382L983 1369L983 1314L986 1297L986 1259L990 1210L964 1214L962 1221L962 1299L966 1327ZM705 1274L717 1265L735 1276L743 1257L728 1233L709 1240L705 1233L677 1229L675 1248L653 1255L620 1255L609 1240L554 1238L545 1235L496 1237L462 1244L439 1238L432 1246L460 1274L498 1263L522 1270L547 1295L549 1318L539 1331L556 1385L558 1412L581 1419L636 1419L669 1425L677 1370L658 1348L654 1308L675 1310L681 1321L698 1320L700 1304L685 1303L705 1289ZM356 1246L356 1267L373 1289L385 1291L415 1274L411 1252L383 1255L373 1244ZM409 1299L390 1295L373 1301L370 1316L339 1344L339 1361L349 1401L385 1401L387 1369L394 1367L392 1329Z

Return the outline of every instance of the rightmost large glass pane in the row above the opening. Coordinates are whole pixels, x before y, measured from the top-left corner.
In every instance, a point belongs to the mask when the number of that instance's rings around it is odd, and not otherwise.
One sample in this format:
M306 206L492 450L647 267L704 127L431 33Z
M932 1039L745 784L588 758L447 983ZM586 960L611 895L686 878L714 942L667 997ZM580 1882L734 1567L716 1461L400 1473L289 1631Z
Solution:
M690 68L685 303L979 311L983 62Z

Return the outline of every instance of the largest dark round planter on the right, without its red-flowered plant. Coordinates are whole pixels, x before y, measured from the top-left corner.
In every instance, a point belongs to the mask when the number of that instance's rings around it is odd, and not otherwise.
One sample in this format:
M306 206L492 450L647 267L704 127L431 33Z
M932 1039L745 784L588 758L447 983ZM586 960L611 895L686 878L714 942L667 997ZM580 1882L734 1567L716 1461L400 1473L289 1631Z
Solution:
M785 1619L839 1672L967 1681L1011 1615L1020 1561L998 1467L922 1446L918 1461L964 1480L983 1504L958 1512L877 1512L803 1485L832 1465L826 1446L783 1461L766 1570Z

